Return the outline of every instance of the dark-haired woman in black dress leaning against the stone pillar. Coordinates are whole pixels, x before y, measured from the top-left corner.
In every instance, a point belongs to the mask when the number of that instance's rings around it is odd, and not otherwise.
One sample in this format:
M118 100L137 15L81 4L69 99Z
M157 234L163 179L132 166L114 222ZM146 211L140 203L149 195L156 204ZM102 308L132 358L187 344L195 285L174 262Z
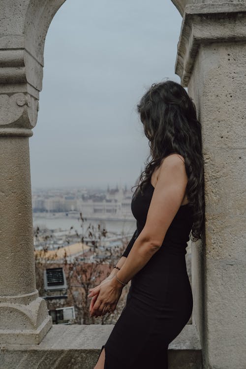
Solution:
M137 228L111 275L91 289L91 316L114 311L131 285L94 369L167 369L168 345L192 313L185 248L204 225L201 125L187 92L170 80L152 85L138 113L152 160L132 196Z

